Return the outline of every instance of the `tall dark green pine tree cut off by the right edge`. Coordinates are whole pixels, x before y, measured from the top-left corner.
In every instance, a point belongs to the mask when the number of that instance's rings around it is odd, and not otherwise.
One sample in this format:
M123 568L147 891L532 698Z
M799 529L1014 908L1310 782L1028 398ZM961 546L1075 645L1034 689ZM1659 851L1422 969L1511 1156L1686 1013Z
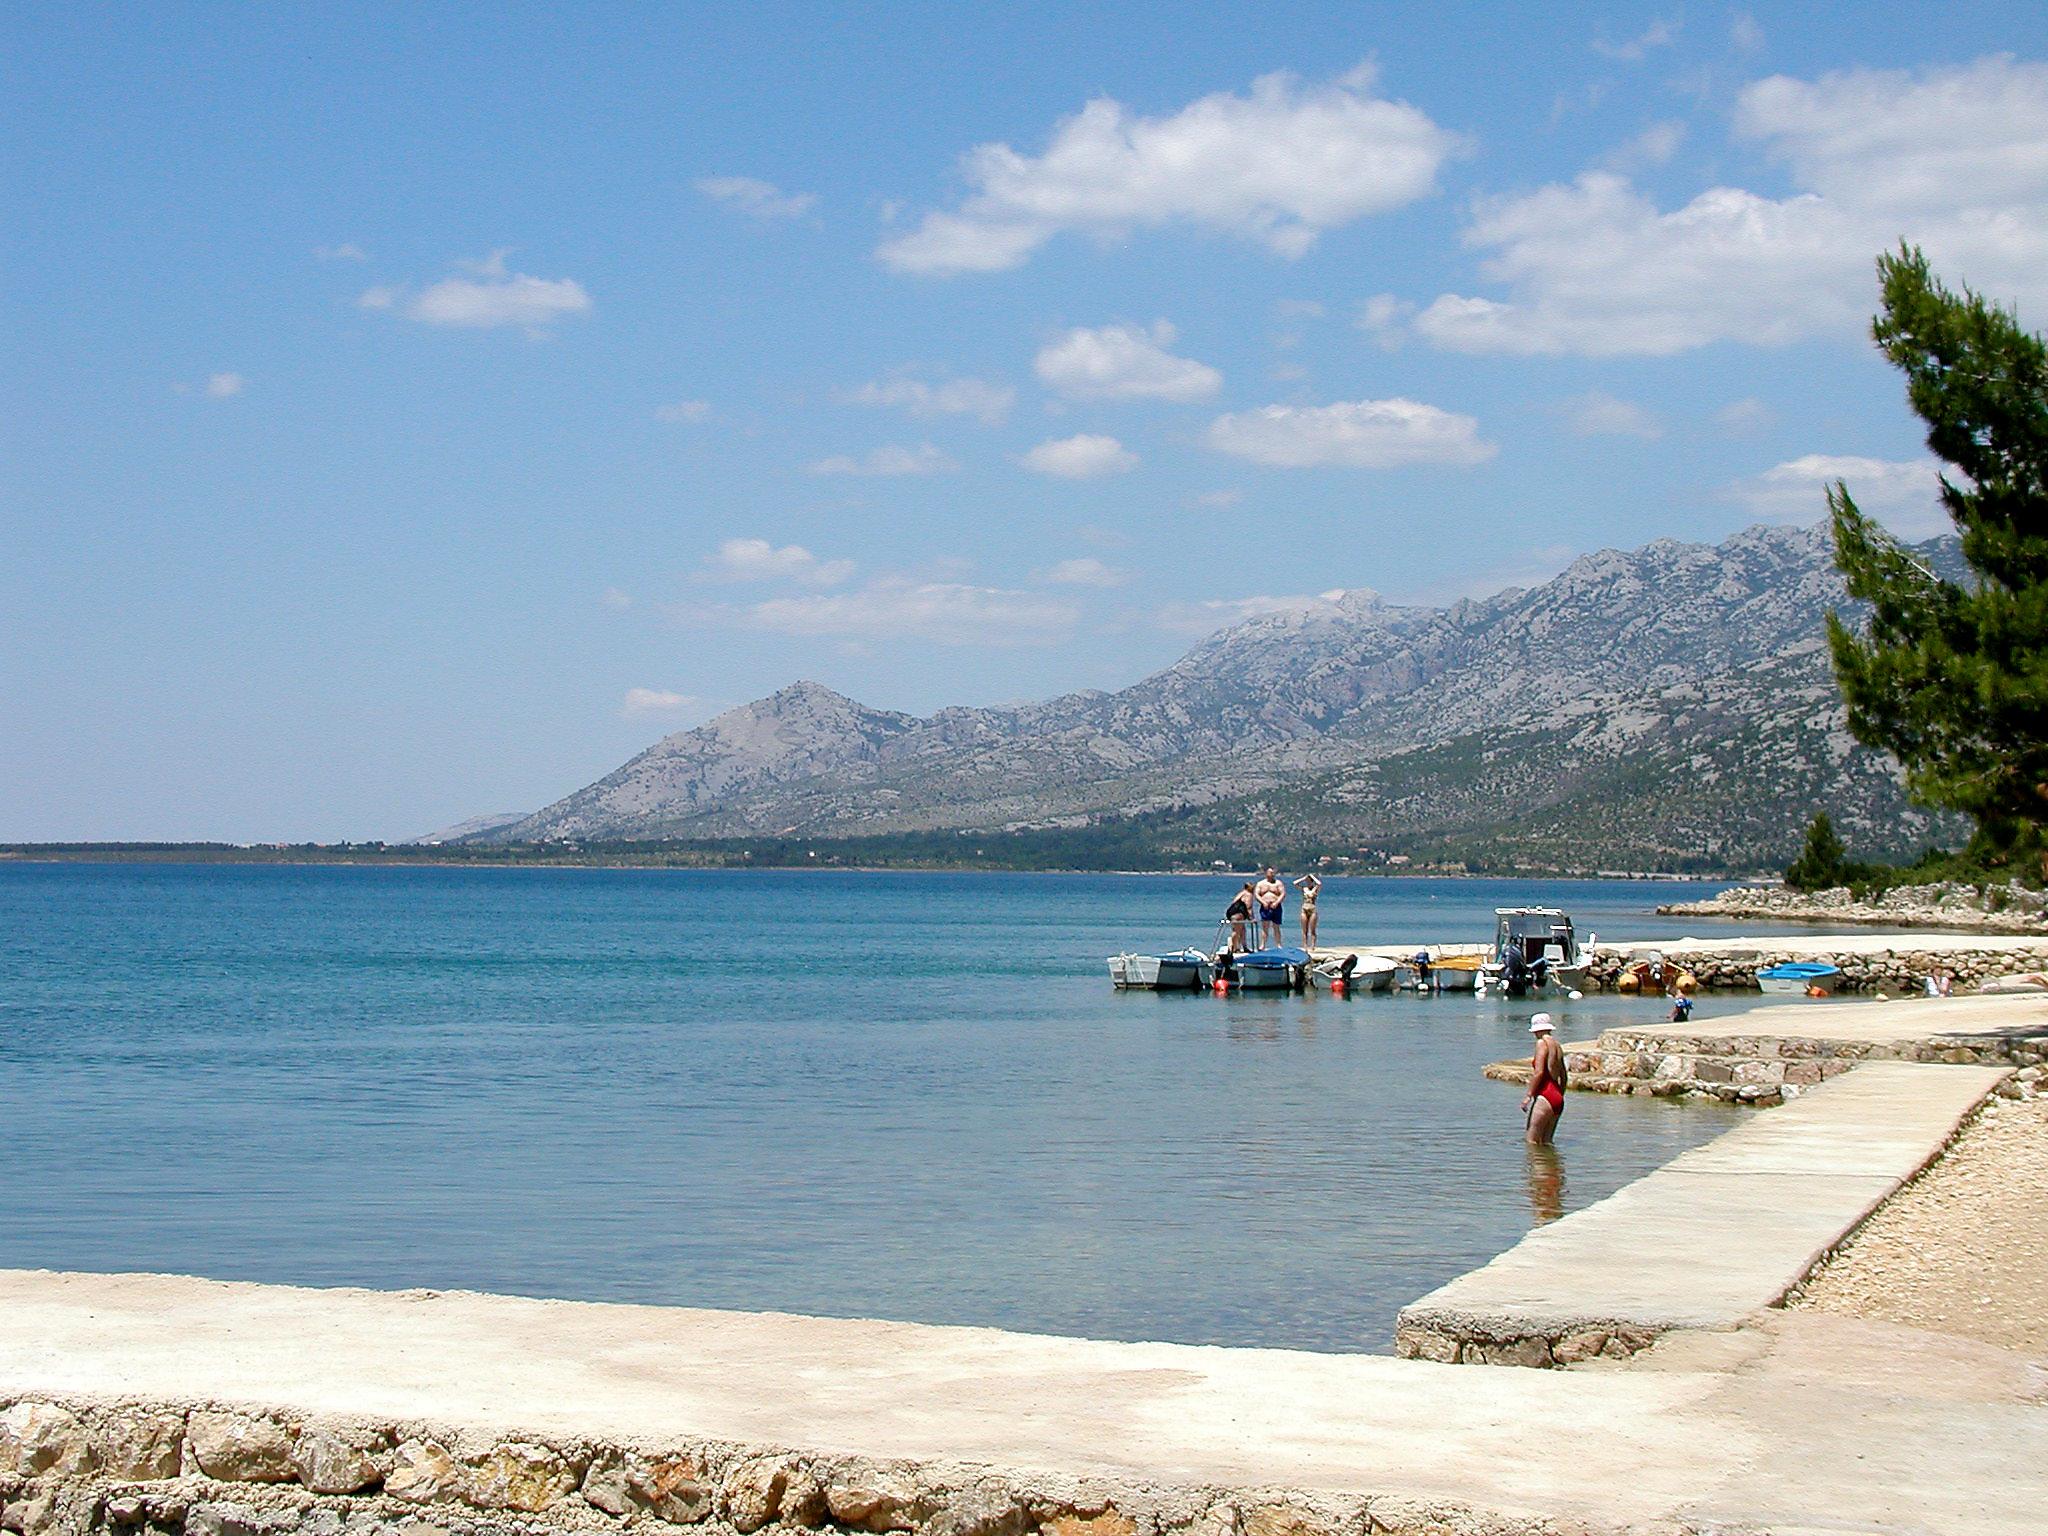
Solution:
M1890 752L1921 805L1976 819L1972 856L2048 874L2048 348L2011 309L1944 287L1919 250L1878 258L1872 334L1944 461L1942 506L1972 575L1948 582L1827 494L1835 565L1870 604L1827 616L1860 741Z

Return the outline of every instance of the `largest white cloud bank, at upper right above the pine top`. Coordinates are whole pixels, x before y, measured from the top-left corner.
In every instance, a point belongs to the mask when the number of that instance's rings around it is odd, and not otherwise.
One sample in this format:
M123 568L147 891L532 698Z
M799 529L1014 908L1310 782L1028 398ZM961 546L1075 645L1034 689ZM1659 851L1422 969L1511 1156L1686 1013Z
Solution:
M2048 305L2048 63L1776 76L1735 133L1796 190L1712 186L1661 211L1626 178L1483 203L1466 242L1503 299L1440 295L1413 328L1460 352L1671 354L1860 336L1901 238L1952 281Z

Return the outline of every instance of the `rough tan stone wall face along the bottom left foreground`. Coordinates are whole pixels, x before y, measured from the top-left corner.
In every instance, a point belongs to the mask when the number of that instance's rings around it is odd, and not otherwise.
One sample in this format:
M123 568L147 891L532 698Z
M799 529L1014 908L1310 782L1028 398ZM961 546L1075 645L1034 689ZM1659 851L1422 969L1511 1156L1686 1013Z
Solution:
M219 1405L0 1407L23 1536L1391 1536L1554 1530L1386 1495L991 1477L723 1442L614 1444Z

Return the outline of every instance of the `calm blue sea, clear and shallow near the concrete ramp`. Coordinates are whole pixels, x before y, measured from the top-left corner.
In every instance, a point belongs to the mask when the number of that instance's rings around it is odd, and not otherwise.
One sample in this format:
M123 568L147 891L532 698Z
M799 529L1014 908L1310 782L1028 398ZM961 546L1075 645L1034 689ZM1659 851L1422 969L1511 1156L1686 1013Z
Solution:
M1532 1157L1479 1075L1526 1004L1110 991L1106 954L1206 942L1233 887L0 866L0 1266L1386 1350L1731 1124L1587 1094ZM1323 934L1706 928L1659 899L1331 881Z

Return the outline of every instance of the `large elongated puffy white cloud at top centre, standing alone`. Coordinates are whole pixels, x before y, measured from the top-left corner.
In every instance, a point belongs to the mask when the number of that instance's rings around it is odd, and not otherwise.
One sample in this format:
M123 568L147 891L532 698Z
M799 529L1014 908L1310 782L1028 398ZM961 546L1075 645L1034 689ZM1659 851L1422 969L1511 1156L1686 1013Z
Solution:
M1372 94L1368 68L1321 86L1262 76L1171 117L1098 96L1053 129L1042 156L983 143L963 160L973 193L928 213L877 256L901 272L952 276L1020 266L1061 231L1120 238L1192 223L1300 256L1323 229L1436 190L1458 139L1405 102Z

